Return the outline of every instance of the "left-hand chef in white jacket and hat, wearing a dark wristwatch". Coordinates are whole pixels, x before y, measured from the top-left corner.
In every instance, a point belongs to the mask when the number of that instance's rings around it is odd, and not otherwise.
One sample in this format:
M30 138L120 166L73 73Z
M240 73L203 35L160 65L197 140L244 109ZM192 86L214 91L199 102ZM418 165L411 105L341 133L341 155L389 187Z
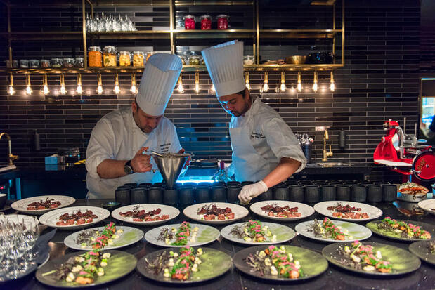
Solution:
M174 124L163 116L182 67L177 55L152 55L131 106L98 121L86 150L88 198L114 198L125 183L160 182L148 153L184 152Z

